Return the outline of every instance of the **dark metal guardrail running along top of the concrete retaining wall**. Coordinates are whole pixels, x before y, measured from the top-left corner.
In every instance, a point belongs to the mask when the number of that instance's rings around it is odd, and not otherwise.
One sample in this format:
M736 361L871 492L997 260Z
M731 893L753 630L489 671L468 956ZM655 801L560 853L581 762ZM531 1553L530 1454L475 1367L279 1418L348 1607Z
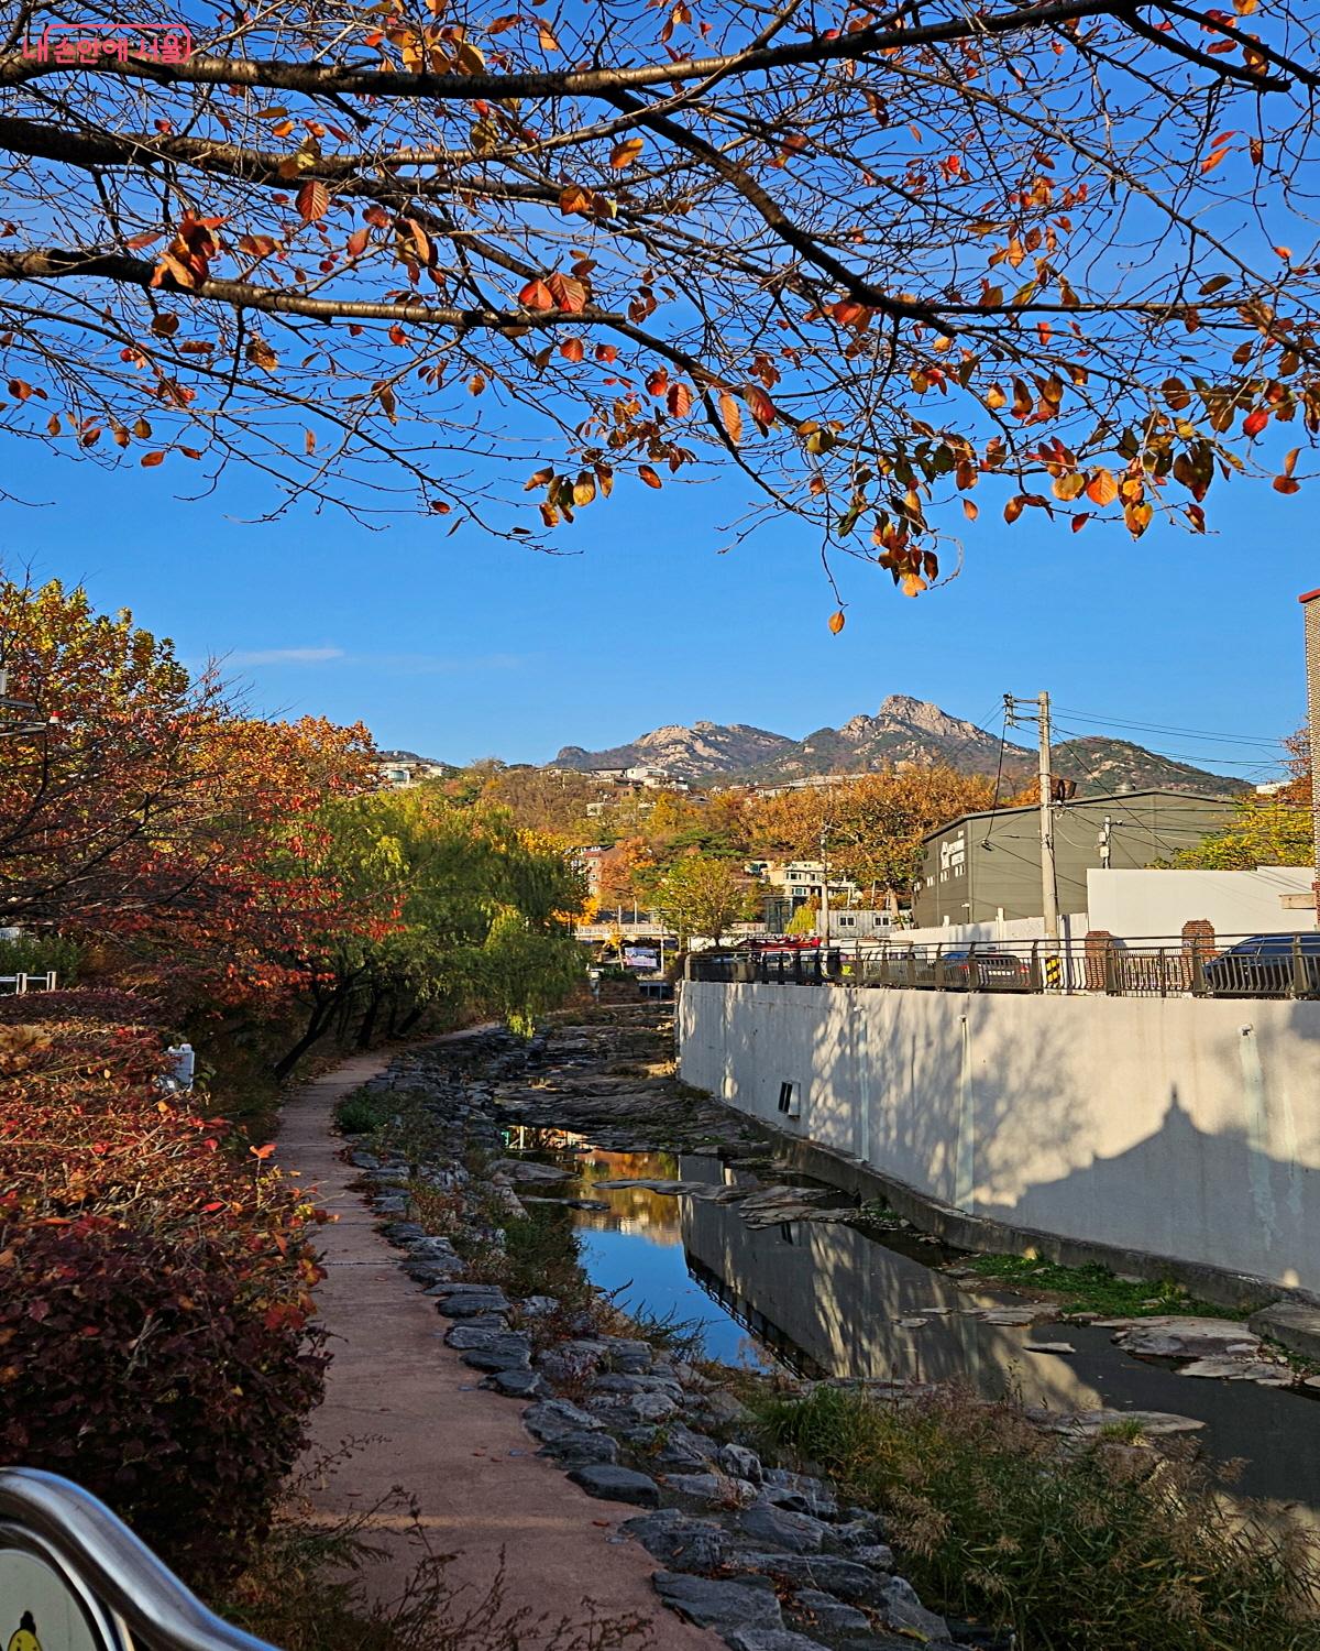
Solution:
M693 953L693 981L1107 997L1320 997L1320 934Z

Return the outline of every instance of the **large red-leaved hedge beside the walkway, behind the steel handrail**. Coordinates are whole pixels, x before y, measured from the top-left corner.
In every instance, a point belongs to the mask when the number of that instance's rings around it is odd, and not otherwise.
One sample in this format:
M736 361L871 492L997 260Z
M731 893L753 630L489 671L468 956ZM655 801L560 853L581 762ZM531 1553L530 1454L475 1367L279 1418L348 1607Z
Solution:
M66 1473L200 1582L259 1539L320 1397L320 1217L160 1091L160 1042L0 1025L0 1461Z

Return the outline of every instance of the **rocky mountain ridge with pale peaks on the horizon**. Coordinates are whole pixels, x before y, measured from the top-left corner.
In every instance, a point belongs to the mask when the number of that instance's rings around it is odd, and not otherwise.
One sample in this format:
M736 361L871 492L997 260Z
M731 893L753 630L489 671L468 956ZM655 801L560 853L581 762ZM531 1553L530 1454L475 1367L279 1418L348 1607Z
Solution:
M810 779L817 774L865 774L898 763L947 763L967 774L1002 771L1006 792L1036 773L1036 753L1005 743L975 723L950 717L929 700L891 693L874 717L851 717L842 728L817 728L804 740L746 723L670 725L607 751L564 746L553 768L667 768L675 778L716 783ZM1089 735L1053 748L1054 773L1076 779L1079 796L1165 788L1200 794L1242 791L1246 783L1147 751L1129 740Z

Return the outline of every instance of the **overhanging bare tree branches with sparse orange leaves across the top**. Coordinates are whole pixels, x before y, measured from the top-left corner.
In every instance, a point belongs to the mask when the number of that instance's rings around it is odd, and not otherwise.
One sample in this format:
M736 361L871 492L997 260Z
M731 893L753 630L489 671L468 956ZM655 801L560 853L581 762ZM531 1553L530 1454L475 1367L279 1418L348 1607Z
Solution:
M1308 7L201 15L0 41L15 439L549 545L719 462L912 594L987 477L1134 537L1305 477Z

